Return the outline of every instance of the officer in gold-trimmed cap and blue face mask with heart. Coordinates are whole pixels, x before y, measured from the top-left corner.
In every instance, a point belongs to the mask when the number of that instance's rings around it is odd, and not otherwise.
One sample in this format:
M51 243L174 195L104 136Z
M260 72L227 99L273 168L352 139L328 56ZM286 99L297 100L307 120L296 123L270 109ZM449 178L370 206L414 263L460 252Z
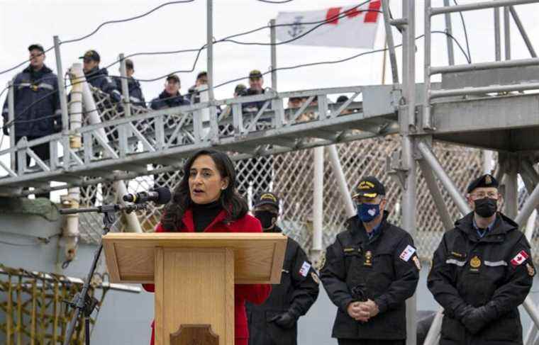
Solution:
M320 272L338 307L333 338L339 345L406 344L406 304L421 264L408 232L387 221L384 185L367 176L352 198L357 216L326 250Z

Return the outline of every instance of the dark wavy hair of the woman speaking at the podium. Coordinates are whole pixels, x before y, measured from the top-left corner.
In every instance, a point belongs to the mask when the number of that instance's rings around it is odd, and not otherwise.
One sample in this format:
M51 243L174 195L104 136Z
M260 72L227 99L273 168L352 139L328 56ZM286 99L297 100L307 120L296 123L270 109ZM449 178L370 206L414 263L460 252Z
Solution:
M189 172L195 159L200 156L209 156L213 159L219 174L224 179L228 177L228 186L221 192L219 200L223 210L228 215L225 222L232 222L245 216L248 212L248 205L245 199L236 191L236 174L234 164L227 154L215 149L201 149L195 152L184 164L184 176L179 185L172 192L172 200L165 206L165 214L162 217L162 225L166 231L175 231L182 227L182 217L187 209L193 204L191 193L189 192Z

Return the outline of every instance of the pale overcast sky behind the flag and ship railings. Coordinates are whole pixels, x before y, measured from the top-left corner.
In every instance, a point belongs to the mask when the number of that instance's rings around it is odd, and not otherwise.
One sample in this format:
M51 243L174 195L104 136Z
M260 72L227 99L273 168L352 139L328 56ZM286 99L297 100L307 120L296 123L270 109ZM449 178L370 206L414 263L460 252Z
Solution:
M0 1L0 70L28 58L30 43L41 43L45 48L52 45L52 36L70 40L86 35L104 21L138 16L166 1L143 0L9 0ZM213 30L218 40L227 35L265 26L279 11L311 11L335 6L350 6L361 1L352 0L294 0L287 4L265 4L257 0L214 0ZM394 16L400 16L401 1L391 0ZM433 0L433 6L441 6L443 0ZM467 4L474 1L458 1ZM416 1L416 33L423 33L424 1ZM528 35L538 43L539 5L516 6ZM469 45L474 62L494 60L493 10L463 13L469 35ZM465 47L462 23L458 13L452 14L453 33ZM443 30L443 16L433 19L433 30ZM316 31L314 31L316 33ZM400 34L394 30L394 40L401 42ZM357 33L360 35L361 33ZM238 38L249 42L270 41L269 30ZM503 35L502 35L503 40ZM447 64L445 35L433 35L434 65ZM104 26L96 35L77 43L62 45L62 64L67 69L77 57L89 49L101 55L101 66L115 61L118 54L199 48L206 43L206 1L196 0L189 4L173 4L151 13L149 16L128 23ZM384 46L384 28L379 26L376 47ZM538 45L539 46L539 45ZM536 46L536 49L539 47ZM511 55L513 58L530 57L514 23L511 23ZM278 67L308 62L339 60L367 50L335 47L301 47L280 45L277 47ZM418 81L423 79L423 40L417 40ZM250 69L266 72L270 67L270 47L234 45L220 43L214 47L214 83L235 79L248 74ZM380 84L382 81L382 53L359 57L341 64L322 65L279 72L279 91L317 89L332 86ZM134 57L135 77L151 79L178 69L191 69L195 53L181 55L154 55ZM401 60L399 50L399 63ZM462 53L455 47L457 63L465 63ZM45 63L56 70L55 55L51 51ZM388 62L389 64L389 62ZM24 67L0 75L0 86L4 89L9 79ZM203 52L194 72L180 74L182 93L194 84L196 73L206 69L206 54ZM401 72L401 71L399 71ZM109 74L119 74L118 65L109 69ZM386 81L389 81L389 72ZM435 80L435 79L433 79ZM247 82L247 81L245 81ZM143 83L145 98L149 101L163 89L164 81ZM270 77L266 78L270 86ZM228 98L234 84L216 89L216 98ZM5 95L5 94L4 94ZM5 96L0 98L4 102ZM8 141L4 140L2 148Z

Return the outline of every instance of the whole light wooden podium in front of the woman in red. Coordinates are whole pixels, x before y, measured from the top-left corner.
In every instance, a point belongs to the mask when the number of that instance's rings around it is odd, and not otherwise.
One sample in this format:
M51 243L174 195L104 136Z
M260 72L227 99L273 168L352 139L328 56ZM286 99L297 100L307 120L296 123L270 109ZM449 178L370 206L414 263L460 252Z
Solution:
M234 345L234 284L278 284L287 237L109 233L112 283L155 283L155 345Z

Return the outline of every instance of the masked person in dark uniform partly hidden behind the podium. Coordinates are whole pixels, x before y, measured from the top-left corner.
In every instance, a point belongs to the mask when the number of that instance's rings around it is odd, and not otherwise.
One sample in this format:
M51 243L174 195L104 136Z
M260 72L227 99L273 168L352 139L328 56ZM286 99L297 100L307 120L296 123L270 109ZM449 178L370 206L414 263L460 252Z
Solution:
M279 199L274 193L262 193L255 201L255 217L264 232L282 232L275 224L279 217ZM305 315L318 298L318 276L294 239L289 238L284 254L281 283L272 285L272 293L262 305L245 303L250 345L295 345L297 320Z

